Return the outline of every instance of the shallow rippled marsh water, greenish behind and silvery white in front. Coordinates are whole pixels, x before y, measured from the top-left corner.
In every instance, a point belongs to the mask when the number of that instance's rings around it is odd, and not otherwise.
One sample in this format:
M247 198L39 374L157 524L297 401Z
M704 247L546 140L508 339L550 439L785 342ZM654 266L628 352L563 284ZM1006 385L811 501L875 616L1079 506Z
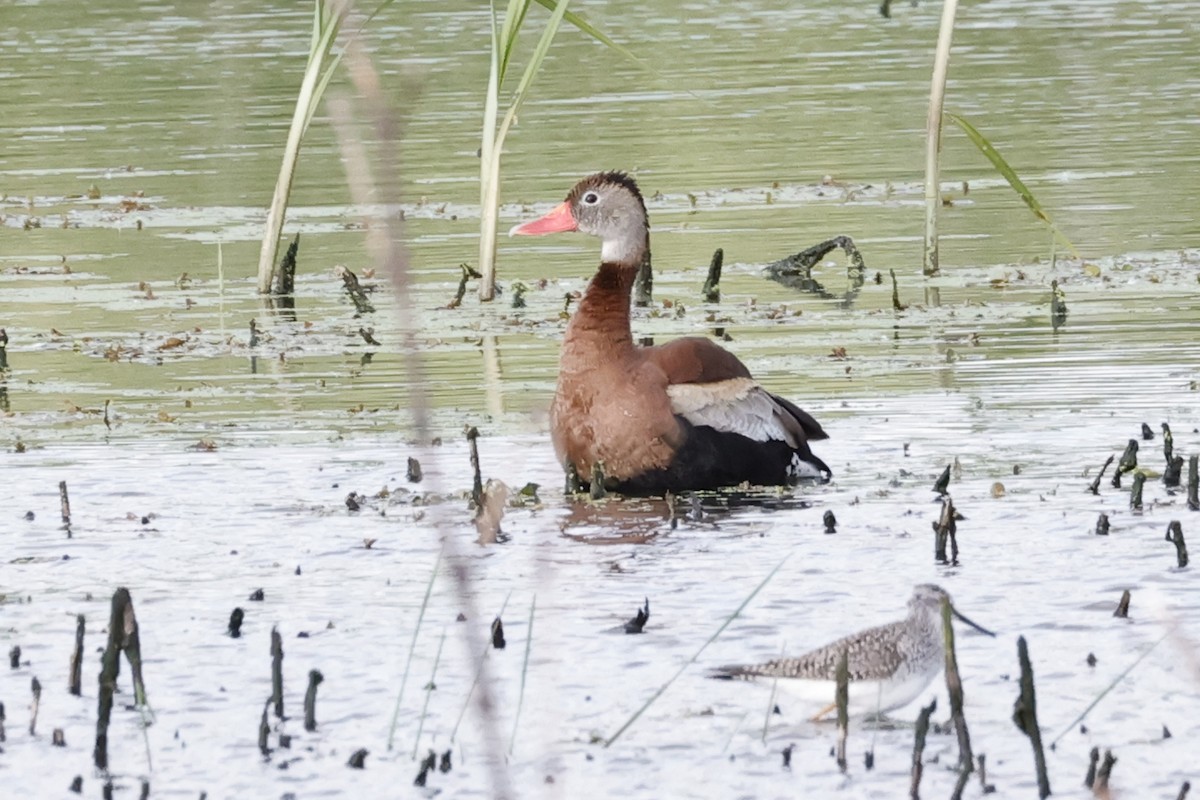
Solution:
M82 775L84 794L100 795L95 675L109 599L125 585L156 715L145 741L136 712L119 705L114 717L110 760L127 796L140 777L152 796L388 796L416 775L415 745L452 751L452 771L433 775L427 794L894 798L907 790L911 730L852 726L844 777L829 756L833 728L804 721L816 709L782 696L763 742L769 687L704 673L896 619L923 582L1000 633L959 631L972 742L998 796L1036 790L1028 744L1010 721L1019 634L1044 735L1067 730L1048 753L1057 796L1088 796L1080 784L1092 746L1120 759L1121 796L1175 796L1195 781L1200 594L1163 535L1181 519L1194 537L1200 517L1153 477L1141 512L1108 480L1098 497L1084 491L1141 422L1157 432L1168 421L1177 452L1200 450L1192 4L961 11L948 107L1001 148L1086 263L1046 263L1044 227L952 130L946 276L934 281L919 277L919 181L936 7L898 5L884 22L870 5L581 4L658 74L564 32L509 143L504 222L548 207L587 172L636 168L659 301L637 312L638 335L724 329L727 347L832 437L818 452L833 483L754 503L706 498L698 518L683 499L674 528L662 500L590 504L560 492L545 414L563 296L583 288L594 242L502 242L502 281L528 284L527 307L479 307L468 295L443 308L457 264L474 258L487 19L470 4L402 5L370 37L386 79L415 68L421 83L403 106L410 325L386 281L366 281L378 311L360 318L332 277L335 264L367 263L370 210L347 205L324 120L289 217L304 231L295 319L252 294L306 7L230 0L196 17L198 7L172 4L71 5L66 28L62 2L0 13L0 74L12 88L0 120L0 327L11 338L0 383L0 640L19 645L23 662L0 670L0 784L50 796ZM86 198L91 185L98 199ZM852 235L870 267L853 302L763 278L764 263L834 233ZM707 305L698 287L715 247L726 251L722 300ZM892 308L889 269L902 312ZM816 275L841 291L844 270L830 258ZM1069 307L1057 329L1051 279ZM414 425L422 398L424 434ZM464 425L482 433L485 477L540 485L539 505L509 509L508 543L475 543ZM444 444L428 445L433 437ZM1145 467L1160 469L1159 447L1142 443ZM420 485L404 479L408 456L422 463ZM958 566L938 566L931 486L955 461L962 552ZM59 481L70 487L70 531ZM386 499L347 511L349 492L382 488ZM824 534L827 510L835 535ZM1108 537L1092 534L1102 511ZM612 747L596 744L785 557ZM467 587L450 563L466 565ZM262 602L247 600L256 589ZM1123 589L1133 591L1128 620L1112 618ZM643 599L646 634L614 632ZM226 634L234 607L246 610L239 639ZM469 711L451 741L475 674L468 645L487 640L502 607L509 646L490 652L484 681L493 728ZM92 654L83 698L64 691L76 614ZM286 650L289 720L278 732L294 739L263 759L271 626ZM1072 728L1164 634L1087 732ZM325 676L312 734L300 722L310 669ZM34 676L43 694L30 735ZM127 675L121 687L128 702ZM944 718L940 681L924 698L935 696ZM49 744L56 727L61 750ZM791 744L784 770L779 752ZM371 751L362 771L346 766L359 747ZM497 778L488 753L510 747ZM930 736L935 757L923 789L946 796L953 735Z

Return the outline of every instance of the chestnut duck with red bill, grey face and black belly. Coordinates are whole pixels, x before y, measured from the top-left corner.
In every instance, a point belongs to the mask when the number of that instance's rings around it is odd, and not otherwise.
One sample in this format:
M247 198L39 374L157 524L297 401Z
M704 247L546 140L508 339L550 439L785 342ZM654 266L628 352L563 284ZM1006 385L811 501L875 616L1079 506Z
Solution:
M550 409L564 468L588 482L599 464L606 487L628 494L828 480L809 449L826 432L760 386L736 355L701 337L634 345L630 291L650 236L634 179L584 178L553 211L510 234L564 230L602 242L600 270L566 326Z

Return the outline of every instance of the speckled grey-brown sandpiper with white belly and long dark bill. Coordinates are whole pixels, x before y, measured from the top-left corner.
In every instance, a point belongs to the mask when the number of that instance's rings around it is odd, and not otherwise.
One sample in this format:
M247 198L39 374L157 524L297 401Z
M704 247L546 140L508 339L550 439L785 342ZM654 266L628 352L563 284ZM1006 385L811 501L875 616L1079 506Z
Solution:
M793 658L776 658L761 664L731 664L713 670L724 680L779 680L779 687L796 697L822 703L812 720L834 710L835 673L842 651L850 667L850 703L853 716L880 716L907 705L946 666L942 631L942 601L950 596L931 583L913 589L908 616L851 633L832 644ZM976 625L950 604L950 613L971 627L996 636Z

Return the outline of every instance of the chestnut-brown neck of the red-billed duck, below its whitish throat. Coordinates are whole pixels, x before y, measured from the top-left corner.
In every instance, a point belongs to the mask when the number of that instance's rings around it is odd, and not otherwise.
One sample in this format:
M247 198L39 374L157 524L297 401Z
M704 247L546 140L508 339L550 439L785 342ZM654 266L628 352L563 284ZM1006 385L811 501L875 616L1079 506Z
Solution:
M637 264L605 261L600 265L566 326L564 368L570 365L588 371L600 363L619 361L634 351L629 295L637 276Z

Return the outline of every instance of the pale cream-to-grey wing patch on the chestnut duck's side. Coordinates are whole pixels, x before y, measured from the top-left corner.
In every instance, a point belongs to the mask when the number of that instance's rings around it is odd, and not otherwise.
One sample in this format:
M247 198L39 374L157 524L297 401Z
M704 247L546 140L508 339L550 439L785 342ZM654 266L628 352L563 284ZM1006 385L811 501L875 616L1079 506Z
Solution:
M750 378L732 378L712 384L667 386L671 410L692 425L740 433L755 441L797 441L782 425L775 399Z

